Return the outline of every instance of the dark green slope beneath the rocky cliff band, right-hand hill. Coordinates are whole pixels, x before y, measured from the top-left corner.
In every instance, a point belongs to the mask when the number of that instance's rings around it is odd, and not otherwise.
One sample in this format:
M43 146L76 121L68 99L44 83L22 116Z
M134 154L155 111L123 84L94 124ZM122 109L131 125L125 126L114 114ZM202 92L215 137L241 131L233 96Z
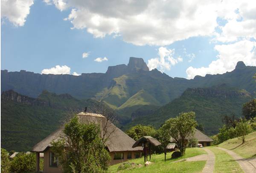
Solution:
M220 98L184 94L180 98L156 110L153 114L134 119L127 126L146 124L158 128L164 121L176 117L180 112L194 111L198 123L203 124L208 135L212 135L218 133L218 128L222 126L222 115L233 113L236 117L240 117L242 104L250 99L251 97L249 96Z

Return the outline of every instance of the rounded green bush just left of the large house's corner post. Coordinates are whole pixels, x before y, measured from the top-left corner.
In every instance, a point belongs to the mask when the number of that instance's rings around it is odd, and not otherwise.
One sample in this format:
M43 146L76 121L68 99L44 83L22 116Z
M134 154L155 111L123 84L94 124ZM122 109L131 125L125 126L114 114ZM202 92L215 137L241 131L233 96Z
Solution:
M11 163L12 173L27 173L35 171L35 153L18 153Z

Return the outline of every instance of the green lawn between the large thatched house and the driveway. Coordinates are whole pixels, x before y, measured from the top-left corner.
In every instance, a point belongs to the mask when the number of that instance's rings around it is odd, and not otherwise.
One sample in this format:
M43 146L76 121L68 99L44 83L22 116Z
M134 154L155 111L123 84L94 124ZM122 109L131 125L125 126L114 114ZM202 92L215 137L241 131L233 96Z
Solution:
M147 173L197 173L203 170L204 165L206 161L192 161L192 162L175 162L173 161L185 159L188 157L193 157L201 154L205 154L206 152L202 150L201 148L187 148L185 156L182 156L177 159L171 159L172 153L167 153L166 155L166 161L164 161L164 154L154 154L151 156L151 162L154 162L154 164L151 164L148 167L140 167L140 168L134 168L133 170L124 170L122 173L126 172L132 172L132 173L140 173L140 172L147 172ZM140 159L133 159L129 162L134 162L137 164L143 164L144 165L144 158ZM111 173L117 172L117 168L119 167L119 164L112 165L109 167L109 171Z

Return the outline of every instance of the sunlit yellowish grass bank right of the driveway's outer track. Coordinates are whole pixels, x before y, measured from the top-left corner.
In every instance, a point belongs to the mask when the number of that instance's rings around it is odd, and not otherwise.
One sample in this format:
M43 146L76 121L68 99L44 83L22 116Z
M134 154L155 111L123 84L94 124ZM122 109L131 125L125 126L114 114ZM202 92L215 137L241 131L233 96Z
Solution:
M233 138L224 141L218 147L232 150L244 158L256 157L256 132L249 133L245 138L244 144L242 144L241 139Z

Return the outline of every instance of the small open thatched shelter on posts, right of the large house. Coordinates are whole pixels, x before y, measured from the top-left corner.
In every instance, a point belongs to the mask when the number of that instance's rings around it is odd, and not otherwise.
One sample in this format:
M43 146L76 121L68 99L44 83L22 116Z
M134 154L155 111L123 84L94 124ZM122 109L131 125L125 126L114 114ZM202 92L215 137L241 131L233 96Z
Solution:
M140 139L138 139L134 144L133 144L133 148L134 147L143 147L143 153L144 153L144 162L146 162L146 156L147 153L149 153L149 160L151 159L151 145L153 146L158 146L161 145L161 143L159 141L157 141L156 138L153 138L151 136L143 136ZM148 157L147 157L148 160Z

